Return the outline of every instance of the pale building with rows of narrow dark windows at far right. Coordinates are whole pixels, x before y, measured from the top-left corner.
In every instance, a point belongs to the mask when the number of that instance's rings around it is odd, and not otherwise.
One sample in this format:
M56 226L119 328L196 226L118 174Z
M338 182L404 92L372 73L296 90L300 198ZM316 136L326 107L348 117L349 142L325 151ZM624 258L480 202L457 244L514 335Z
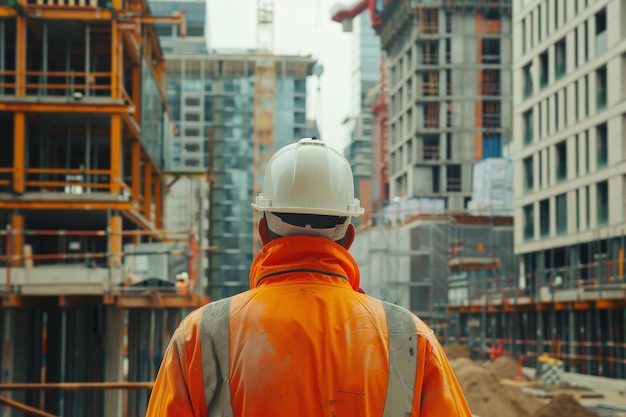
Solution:
M517 2L513 30L516 251L529 273L618 259L626 221L626 2ZM584 268L578 278L623 278L616 268ZM561 277L569 279L577 278Z

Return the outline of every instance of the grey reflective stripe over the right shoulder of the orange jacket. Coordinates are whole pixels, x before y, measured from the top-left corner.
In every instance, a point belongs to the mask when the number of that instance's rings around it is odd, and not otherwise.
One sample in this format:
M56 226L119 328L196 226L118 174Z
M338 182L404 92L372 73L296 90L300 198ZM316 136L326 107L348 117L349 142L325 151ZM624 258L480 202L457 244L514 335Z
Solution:
M417 328L413 314L383 302L389 335L389 379L384 417L410 416L417 372Z

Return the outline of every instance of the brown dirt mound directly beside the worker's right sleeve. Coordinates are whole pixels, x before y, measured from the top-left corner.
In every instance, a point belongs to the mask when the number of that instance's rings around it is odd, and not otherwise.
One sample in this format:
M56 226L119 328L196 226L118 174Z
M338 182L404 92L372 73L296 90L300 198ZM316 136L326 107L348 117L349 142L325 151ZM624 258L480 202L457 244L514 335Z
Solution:
M543 405L541 400L515 387L502 385L499 376L471 359L452 359L450 364L475 415L524 417Z

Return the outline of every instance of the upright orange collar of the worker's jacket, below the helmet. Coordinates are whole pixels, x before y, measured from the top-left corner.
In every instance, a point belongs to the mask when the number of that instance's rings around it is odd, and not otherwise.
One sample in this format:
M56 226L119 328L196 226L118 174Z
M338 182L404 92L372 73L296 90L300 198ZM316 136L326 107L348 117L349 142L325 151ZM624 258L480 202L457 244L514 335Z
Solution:
M327 276L359 289L359 268L352 255L338 243L319 236L285 236L263 246L250 268L250 288L289 280L298 272Z

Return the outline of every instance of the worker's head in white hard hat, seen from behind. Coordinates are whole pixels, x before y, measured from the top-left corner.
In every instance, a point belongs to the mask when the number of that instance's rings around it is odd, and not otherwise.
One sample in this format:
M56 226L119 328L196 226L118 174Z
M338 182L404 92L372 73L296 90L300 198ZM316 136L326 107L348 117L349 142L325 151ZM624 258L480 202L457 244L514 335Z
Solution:
M268 161L261 193L252 204L263 212L263 244L281 236L322 236L349 247L350 219L364 209L354 198L352 170L336 150L305 138L279 149Z

